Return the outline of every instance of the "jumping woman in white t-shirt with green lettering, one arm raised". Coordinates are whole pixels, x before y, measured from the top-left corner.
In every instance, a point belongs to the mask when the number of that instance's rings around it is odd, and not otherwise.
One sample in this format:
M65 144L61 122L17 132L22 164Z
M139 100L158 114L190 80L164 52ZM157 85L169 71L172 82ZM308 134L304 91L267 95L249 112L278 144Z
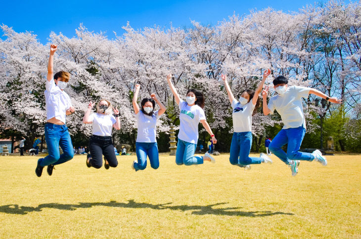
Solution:
M199 122L202 123L206 131L211 135L213 143L217 143L217 139L214 137L203 111L204 97L202 92L195 89L188 90L185 102L179 96L171 79L172 74L169 74L167 82L180 109L179 118L181 122L178 133L176 163L178 165L193 165L202 164L204 160L214 163L215 159L208 152L204 156L194 156L198 142Z

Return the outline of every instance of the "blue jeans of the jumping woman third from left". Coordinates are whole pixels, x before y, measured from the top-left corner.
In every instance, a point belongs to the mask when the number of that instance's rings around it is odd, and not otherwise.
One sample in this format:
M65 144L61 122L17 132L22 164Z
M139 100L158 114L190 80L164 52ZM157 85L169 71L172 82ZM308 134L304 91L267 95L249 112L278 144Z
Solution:
M147 166L147 155L150 162L150 167L157 169L159 168L159 154L158 144L155 143L144 143L135 142L136 157L138 163L134 164L135 171L143 170Z

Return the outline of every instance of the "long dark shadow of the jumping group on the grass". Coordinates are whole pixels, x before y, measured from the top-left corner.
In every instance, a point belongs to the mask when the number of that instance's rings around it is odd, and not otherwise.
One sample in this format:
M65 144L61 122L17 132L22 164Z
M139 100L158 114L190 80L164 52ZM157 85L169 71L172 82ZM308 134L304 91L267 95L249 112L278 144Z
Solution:
M133 199L128 200L128 203L110 201L110 202L80 202L79 204L61 204L61 203L44 203L40 204L37 207L26 207L20 206L17 204L8 204L0 206L0 212L8 214L19 214L25 215L28 212L41 212L43 208L55 208L59 210L76 210L77 208L90 208L92 206L107 206L107 207L123 207L123 208L151 208L156 210L175 210L175 211L191 211L192 215L226 215L226 216L242 216L242 217L265 217L273 216L277 214L281 215L294 215L293 213L284 213L284 212L271 212L271 211L238 211L239 207L225 207L225 208L213 208L214 206L224 205L227 202L221 202L216 204L211 204L207 206L189 206L189 205L179 205L179 206L170 206L172 202L163 203L163 204L150 204L145 202L135 202Z

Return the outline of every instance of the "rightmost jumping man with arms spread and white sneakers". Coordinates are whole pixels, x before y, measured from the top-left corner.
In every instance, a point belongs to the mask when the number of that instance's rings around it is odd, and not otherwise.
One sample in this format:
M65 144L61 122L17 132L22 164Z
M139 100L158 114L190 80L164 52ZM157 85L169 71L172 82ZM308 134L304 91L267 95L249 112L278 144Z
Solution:
M273 87L277 95L270 98L268 105L269 87L262 91L263 112L268 115L277 110L284 126L270 143L270 151L291 167L292 176L297 175L300 160L315 160L326 166L327 160L318 149L312 153L299 151L306 133L306 120L301 100L302 97L306 98L309 94L314 94L333 103L341 103L342 101L336 97L328 97L316 89L301 86L289 87L288 79L284 76L276 77L273 80ZM287 153L281 148L285 144L287 144Z

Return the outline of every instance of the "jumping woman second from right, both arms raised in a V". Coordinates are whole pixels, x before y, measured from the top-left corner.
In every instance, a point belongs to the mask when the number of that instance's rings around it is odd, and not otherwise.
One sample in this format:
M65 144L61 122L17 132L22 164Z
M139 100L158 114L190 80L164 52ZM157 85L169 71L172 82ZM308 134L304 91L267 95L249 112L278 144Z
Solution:
M261 153L260 157L249 156L252 146L252 115L261 106L258 95L261 93L263 85L270 74L270 69L265 71L257 90L244 90L239 100L236 100L230 91L227 76L221 75L232 105L233 136L230 143L229 162L247 170L251 169L250 164L272 163L272 160L265 153Z

